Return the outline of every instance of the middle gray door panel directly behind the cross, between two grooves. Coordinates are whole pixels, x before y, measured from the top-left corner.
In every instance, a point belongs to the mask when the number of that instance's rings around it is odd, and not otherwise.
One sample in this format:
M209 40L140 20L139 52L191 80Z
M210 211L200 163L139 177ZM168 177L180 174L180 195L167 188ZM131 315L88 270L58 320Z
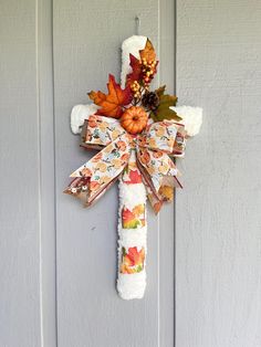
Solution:
M88 103L88 91L104 90L108 73L119 77L121 43L135 33L136 14L142 13L140 34L149 35L159 53L168 52L171 74L174 33L159 46L167 27L159 30L158 6L156 0L54 0L58 340L63 347L173 346L173 206L164 220L149 210L146 295L126 302L115 291L116 185L91 209L62 194L70 172L92 156L70 132L71 108ZM170 28L173 21L168 15Z

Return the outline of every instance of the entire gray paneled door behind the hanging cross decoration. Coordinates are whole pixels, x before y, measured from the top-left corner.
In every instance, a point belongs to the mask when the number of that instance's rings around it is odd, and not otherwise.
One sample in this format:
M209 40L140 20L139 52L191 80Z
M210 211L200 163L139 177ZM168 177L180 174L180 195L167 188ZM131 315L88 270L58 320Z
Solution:
M260 347L260 1L0 7L0 346L170 347L176 312L177 347ZM119 75L136 15L157 46L157 82L171 92L176 81L205 119L179 160L175 215L171 204L149 213L146 296L124 302L116 187L90 210L62 190L90 157L71 107Z

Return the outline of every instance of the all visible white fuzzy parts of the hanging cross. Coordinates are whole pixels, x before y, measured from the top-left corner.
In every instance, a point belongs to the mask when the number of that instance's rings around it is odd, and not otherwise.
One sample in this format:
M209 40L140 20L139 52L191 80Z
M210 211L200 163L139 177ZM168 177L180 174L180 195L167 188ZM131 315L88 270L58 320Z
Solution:
M146 36L132 36L123 42L122 45L122 74L121 84L122 88L125 87L126 75L132 72L129 66L129 53L139 57L139 50L144 49L146 44ZM74 134L80 134L84 120L88 116L95 114L100 108L94 104L76 105L72 109L71 115L71 128ZM170 107L181 118L185 125L185 129L189 136L198 134L202 123L202 109L199 107L178 106ZM136 160L136 155L132 151ZM130 206L130 208L129 208ZM125 229L122 225L122 210L124 207L128 207L132 210L135 206L146 206L146 188L143 182L139 183L124 183L124 180L119 179L119 209L118 209L118 259L122 256L122 248L128 249L129 246L136 246L144 249L147 252L147 223L139 229ZM145 261L146 263L146 261ZM122 298L142 298L144 296L146 287L146 269L139 273L125 274L119 271L117 275L117 291Z

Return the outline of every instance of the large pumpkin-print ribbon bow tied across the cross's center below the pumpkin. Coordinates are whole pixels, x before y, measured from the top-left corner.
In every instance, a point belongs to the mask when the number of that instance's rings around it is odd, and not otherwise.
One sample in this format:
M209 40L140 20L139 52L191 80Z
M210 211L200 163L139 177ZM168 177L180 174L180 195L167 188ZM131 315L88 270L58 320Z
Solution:
M152 123L142 134L132 136L117 119L88 116L84 122L81 146L103 149L71 175L74 180L64 192L91 206L114 183L135 155L149 201L158 212L161 202L168 200L163 187L181 187L177 178L179 172L169 156L182 157L185 145L184 125L174 120Z

